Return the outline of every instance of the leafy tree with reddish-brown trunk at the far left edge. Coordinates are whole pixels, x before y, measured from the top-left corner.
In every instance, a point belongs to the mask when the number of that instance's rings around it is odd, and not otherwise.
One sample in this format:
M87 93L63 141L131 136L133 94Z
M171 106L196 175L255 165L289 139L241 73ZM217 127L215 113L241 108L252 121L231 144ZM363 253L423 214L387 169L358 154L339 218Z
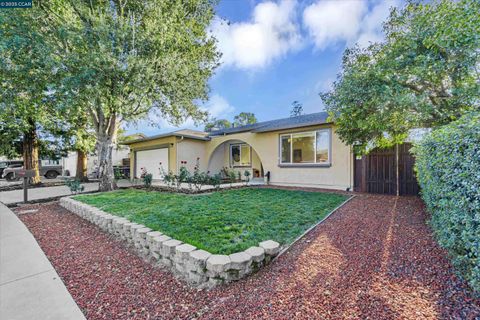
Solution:
M21 137L24 167L35 171L31 183L40 183L39 132L57 126L49 89L58 57L51 49L30 10L0 12L0 150L16 155Z

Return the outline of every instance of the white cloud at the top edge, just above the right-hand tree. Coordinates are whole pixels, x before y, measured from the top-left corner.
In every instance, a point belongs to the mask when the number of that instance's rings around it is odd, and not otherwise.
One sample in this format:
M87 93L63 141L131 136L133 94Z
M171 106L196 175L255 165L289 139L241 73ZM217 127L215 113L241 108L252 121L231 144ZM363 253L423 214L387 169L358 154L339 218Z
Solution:
M319 0L305 8L303 24L318 49L339 42L366 46L383 39L382 22L390 7L399 4L400 0L374 1L370 6L366 0Z

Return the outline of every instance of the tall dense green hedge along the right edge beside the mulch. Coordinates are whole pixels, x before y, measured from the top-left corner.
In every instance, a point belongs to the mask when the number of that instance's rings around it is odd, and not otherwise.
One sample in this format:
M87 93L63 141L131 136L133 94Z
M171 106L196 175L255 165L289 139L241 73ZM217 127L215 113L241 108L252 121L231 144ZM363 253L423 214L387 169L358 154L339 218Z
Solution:
M434 130L414 152L438 242L480 292L480 113Z

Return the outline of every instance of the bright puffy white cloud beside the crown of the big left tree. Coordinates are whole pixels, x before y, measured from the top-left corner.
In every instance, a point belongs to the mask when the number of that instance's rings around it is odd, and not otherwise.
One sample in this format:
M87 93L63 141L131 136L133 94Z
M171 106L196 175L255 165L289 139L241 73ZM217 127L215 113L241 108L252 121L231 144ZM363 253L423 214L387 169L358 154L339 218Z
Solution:
M263 2L255 6L249 22L212 24L222 64L240 69L261 68L301 46L296 24L296 1Z

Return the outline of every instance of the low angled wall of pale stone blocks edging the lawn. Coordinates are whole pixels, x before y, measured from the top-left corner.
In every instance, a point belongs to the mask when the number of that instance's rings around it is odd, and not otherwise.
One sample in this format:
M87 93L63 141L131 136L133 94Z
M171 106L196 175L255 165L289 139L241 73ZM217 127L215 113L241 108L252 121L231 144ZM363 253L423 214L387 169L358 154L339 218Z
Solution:
M127 241L141 256L153 259L155 263L168 267L177 276L200 287L239 280L270 262L280 251L277 242L267 240L260 242L258 247L228 256L211 254L70 197L61 198L60 205Z

